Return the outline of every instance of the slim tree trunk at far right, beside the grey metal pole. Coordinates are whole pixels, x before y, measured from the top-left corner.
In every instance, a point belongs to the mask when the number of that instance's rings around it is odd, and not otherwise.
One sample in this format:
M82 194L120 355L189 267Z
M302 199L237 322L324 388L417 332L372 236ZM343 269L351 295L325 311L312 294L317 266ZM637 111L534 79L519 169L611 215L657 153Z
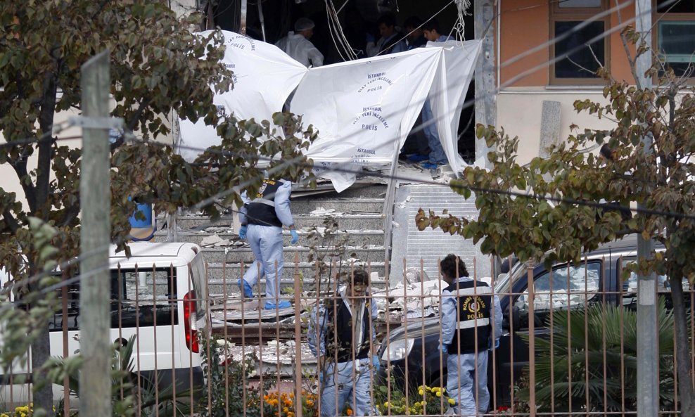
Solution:
M690 347L688 338L688 321L683 302L683 281L680 271L670 271L668 281L671 285L673 299L673 318L675 321L675 340L678 376L678 396L680 397L680 415L695 417L695 393L693 392L690 364Z

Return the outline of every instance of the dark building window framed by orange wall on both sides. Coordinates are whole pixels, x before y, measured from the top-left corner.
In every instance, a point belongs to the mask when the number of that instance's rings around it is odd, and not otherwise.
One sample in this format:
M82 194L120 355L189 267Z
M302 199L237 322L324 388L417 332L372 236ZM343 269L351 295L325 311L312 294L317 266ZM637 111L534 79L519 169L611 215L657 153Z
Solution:
M608 56L606 0L560 0L550 9L551 84L603 84Z

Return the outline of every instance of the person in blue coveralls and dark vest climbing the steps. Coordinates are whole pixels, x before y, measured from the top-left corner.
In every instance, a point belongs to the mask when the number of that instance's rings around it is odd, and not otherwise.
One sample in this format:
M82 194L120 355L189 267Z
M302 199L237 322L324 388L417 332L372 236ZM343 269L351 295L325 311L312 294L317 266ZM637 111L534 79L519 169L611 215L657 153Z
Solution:
M279 280L282 279L282 227L290 229L291 243L299 240L290 211L292 183L285 179L264 179L255 198L241 194L244 202L239 210L239 238L247 240L255 262L246 270L237 284L245 297L253 297L253 286L265 275L265 309L291 307L287 300L279 300ZM259 273L259 267L261 269Z

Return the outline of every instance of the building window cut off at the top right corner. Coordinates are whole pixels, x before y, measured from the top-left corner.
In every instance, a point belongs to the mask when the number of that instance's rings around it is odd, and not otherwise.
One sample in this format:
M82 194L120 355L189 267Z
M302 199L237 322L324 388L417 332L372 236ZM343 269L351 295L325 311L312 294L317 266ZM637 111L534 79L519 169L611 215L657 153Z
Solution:
M656 0L656 46L666 68L694 77L695 1Z

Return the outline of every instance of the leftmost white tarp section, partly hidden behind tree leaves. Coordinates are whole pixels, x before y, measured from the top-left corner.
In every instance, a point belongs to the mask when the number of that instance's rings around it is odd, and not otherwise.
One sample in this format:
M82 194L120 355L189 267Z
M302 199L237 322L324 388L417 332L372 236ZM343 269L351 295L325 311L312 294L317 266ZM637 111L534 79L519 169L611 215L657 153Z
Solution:
M234 89L215 94L213 102L218 112L234 114L238 120L272 121L273 113L282 110L307 68L272 44L234 32L223 30L222 34L227 46L223 62L234 72ZM205 125L203 119L195 124L181 120L180 125L178 152L185 160L193 161L206 148L222 142L215 128ZM278 132L282 134L282 129Z

